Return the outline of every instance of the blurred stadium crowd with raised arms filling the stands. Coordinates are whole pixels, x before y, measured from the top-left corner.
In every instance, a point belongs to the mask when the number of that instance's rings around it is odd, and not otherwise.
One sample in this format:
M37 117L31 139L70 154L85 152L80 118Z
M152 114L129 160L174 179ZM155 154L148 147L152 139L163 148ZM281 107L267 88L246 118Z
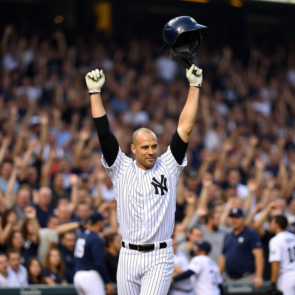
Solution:
M119 45L78 37L70 45L61 31L23 36L5 27L0 286L73 283L75 242L95 211L105 217L101 238L116 282L116 200L101 164L84 77L104 70L101 97L126 155L133 158L131 138L139 127L155 132L162 154L189 86L185 70L169 60L169 51L159 55L158 47L148 40ZM197 53L203 83L188 165L178 181L173 247L189 261L194 242L208 241L209 256L227 281L251 279L260 286L259 272L269 280L271 217L285 215L295 231L294 52L254 48L247 62L228 46L203 44ZM233 229L243 247L231 247Z

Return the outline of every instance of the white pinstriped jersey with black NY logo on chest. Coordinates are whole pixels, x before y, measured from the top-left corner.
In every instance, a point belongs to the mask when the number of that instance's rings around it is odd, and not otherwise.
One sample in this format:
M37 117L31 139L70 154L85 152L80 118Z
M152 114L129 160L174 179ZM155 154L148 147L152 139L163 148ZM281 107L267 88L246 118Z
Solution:
M102 164L112 179L116 200L117 219L123 240L152 243L171 238L174 228L177 181L187 165L186 155L179 165L171 153L157 158L147 171L136 165L119 148L117 158L108 166Z

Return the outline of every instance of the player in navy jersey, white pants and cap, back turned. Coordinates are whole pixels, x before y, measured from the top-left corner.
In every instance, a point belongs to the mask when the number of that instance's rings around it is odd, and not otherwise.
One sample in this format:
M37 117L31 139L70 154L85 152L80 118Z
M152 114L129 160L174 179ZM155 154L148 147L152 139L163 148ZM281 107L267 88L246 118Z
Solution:
M74 286L78 295L114 293L114 287L110 283L104 261L103 244L97 235L103 229L102 220L101 214L97 212L92 214L89 217L91 224L88 225L88 229L82 233L76 242Z

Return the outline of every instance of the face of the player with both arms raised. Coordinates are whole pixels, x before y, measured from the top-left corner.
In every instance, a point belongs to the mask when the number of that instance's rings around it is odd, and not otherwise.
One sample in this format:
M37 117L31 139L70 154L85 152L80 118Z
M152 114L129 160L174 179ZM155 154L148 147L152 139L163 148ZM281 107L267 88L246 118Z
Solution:
M136 160L143 166L142 168L149 169L155 165L158 157L157 138L153 133L139 133L137 145L131 145L131 150L135 154Z

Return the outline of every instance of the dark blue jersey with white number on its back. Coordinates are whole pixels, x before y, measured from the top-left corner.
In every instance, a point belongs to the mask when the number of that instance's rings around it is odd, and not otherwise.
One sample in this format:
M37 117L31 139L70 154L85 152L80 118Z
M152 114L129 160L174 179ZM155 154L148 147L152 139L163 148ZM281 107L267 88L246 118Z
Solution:
M95 232L85 230L76 242L74 251L76 271L96 270L105 283L110 282L104 261L104 247Z

